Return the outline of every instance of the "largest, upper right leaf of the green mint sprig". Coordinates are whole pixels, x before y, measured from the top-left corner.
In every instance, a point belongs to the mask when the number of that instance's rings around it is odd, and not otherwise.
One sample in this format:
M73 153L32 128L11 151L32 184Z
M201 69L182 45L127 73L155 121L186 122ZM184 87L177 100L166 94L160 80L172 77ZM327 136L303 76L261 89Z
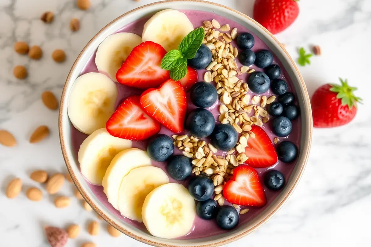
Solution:
M205 37L205 31L202 27L195 29L187 34L179 44L179 51L187 59L193 59L196 51L200 48L202 40Z

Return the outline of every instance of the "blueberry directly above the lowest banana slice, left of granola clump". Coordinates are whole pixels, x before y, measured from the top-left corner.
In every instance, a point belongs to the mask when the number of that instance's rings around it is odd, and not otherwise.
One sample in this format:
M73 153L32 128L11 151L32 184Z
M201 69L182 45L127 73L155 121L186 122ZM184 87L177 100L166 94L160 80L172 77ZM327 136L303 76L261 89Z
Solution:
M169 158L166 168L170 177L181 181L187 179L191 175L192 163L190 158L177 155Z

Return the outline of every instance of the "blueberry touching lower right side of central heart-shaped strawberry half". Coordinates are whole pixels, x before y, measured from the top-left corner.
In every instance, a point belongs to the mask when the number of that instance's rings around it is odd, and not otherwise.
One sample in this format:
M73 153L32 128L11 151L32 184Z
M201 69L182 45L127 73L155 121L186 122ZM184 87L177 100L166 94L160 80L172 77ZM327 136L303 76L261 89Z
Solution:
M215 119L210 111L197 108L188 114L185 128L192 136L204 138L210 136L215 127Z

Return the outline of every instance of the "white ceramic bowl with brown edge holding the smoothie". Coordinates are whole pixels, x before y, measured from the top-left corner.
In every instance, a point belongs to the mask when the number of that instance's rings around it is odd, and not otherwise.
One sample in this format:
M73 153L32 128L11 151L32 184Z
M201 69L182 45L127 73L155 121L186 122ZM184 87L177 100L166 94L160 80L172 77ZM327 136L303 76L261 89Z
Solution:
M249 222L240 225L232 231L226 231L224 234L217 236L211 236L206 238L187 239L187 240L167 240L151 236L149 233L138 230L135 227L125 223L121 219L115 217L110 211L108 211L104 205L96 198L87 185L87 182L82 177L79 171L79 165L73 157L71 138L70 138L70 121L67 115L67 102L69 99L70 91L75 79L79 76L84 65L87 63L89 57L97 49L98 45L110 34L116 30L125 26L132 21L138 20L149 14L153 14L163 9L180 9L180 10L203 10L214 12L228 19L234 20L237 23L247 27L250 31L255 33L260 39L262 39L267 46L275 53L278 59L281 61L282 66L287 71L293 86L295 87L296 94L298 96L299 107L301 109L301 143L299 158L295 165L295 168L286 183L285 188L280 192L279 196L265 208L265 210L257 215ZM304 81L296 67L294 61L291 59L289 54L286 52L284 47L270 34L264 27L252 20L248 16L232 10L228 7L222 6L216 3L210 3L206 1L162 1L153 4L148 4L122 16L116 18L114 21L105 26L99 33L97 33L93 39L85 46L82 52L79 54L75 63L70 70L65 87L62 93L62 99L60 103L59 113L59 136L60 144L62 147L63 157L66 161L66 166L72 177L72 180L76 184L76 187L81 192L85 200L91 205L91 207L97 211L97 213L108 221L109 224L116 227L118 230L127 234L128 236L135 238L143 243L151 244L154 246L219 246L222 244L230 243L231 241L237 240L265 223L270 217L275 214L279 208L289 198L292 191L296 187L299 179L305 168L306 161L309 155L309 149L311 145L312 137L312 115L309 103L308 93Z

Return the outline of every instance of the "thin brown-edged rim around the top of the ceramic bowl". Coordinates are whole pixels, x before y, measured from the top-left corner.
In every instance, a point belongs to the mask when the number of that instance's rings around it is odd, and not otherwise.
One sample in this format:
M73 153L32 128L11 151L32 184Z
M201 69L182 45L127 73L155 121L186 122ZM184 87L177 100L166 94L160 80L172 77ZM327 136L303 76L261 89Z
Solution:
M204 1L204 0L165 0L165 1L158 1L158 2L155 2L155 3L150 3L150 4L146 4L146 5L137 7L135 9L133 9L133 10L130 10L130 11L122 14L121 16L115 18L114 20L112 20L110 23L108 23L106 26L104 26L101 30L99 30L98 33L96 33L95 36L86 44L86 46L82 49L81 53L76 58L75 62L73 63L73 65L72 65L72 67L71 67L71 69L70 69L70 71L68 73L68 76L66 78L65 85L63 86L62 96L61 96L61 99L60 99L60 108L59 108L58 125L59 125L60 146L62 148L62 154L63 154L63 158L65 160L65 163L66 163L68 172L69 172L69 174L70 174L70 176L72 178L73 183L75 183L76 188L82 194L82 197L84 198L84 200L96 211L96 213L99 214L99 216L101 216L102 218L104 218L104 220L106 222L108 222L109 224L111 224L112 226L114 226L116 229L118 229L119 231L121 231L125 235L127 235L127 236L129 236L131 238L134 238L135 240L138 240L138 241L140 241L142 243L150 244L152 246L164 246L164 247L178 247L178 246L180 246L180 245L176 245L176 244L160 243L160 242L157 242L157 241L149 240L149 239L147 239L145 237L142 237L142 236L138 236L138 235L132 233L130 230L125 229L125 228L119 226L114 221L112 221L111 218L109 218L101 210L99 210L99 207L96 206L95 203L93 203L93 201L91 200L91 198L88 196L88 194L86 194L85 190L82 188L81 184L77 180L77 178L76 178L76 176L75 176L75 174L74 174L74 172L73 172L73 170L71 168L71 164L70 164L69 158L68 158L68 156L66 154L66 145L65 145L65 138L63 136L63 124L62 124L62 122L63 122L62 121L63 120L63 108L64 108L63 106L65 104L65 98L66 98L66 88L67 88L67 86L69 84L72 71L75 69L75 66L78 64L78 62L81 59L81 57L82 57L83 53L85 52L85 50L96 39L96 37L99 36L99 34L101 34L103 31L105 31L109 26L111 26L112 24L114 24L116 21L118 21L122 17L127 16L128 14L130 14L132 12L135 12L135 11L141 10L141 9L144 9L146 7L154 6L154 5L157 5L157 4L179 2L179 1L188 1L188 2L203 3L203 4L211 4L211 5L214 5L214 6L217 6L217 7L222 7L224 9L226 9L226 10L233 11L234 13L239 14L240 16L242 16L242 17L246 18L247 20L251 21L252 23L256 24L256 26L259 27L262 32L265 32L267 35L269 35L278 44L278 46L282 49L282 51L286 54L286 56L287 56L287 58L289 60L288 62L291 63L291 65L293 66L293 68L296 70L297 76L299 77L299 80L301 82L301 87L303 89L303 99L304 99L305 108L309 108L309 110L307 111L308 112L308 119L307 120L309 120L309 130L308 130L309 133L307 133L308 134L308 140L307 140L307 144L308 145L303 148L303 150L304 150L303 164L300 167L300 171L298 173L298 177L296 178L296 180L293 183L293 185L290 188L290 190L288 192L286 192L285 197L282 199L282 201L280 201L278 203L278 205L275 208L273 208L270 211L270 213L267 214L262 220L260 220L254 226L247 228L242 233L237 234L236 236L227 237L225 240L216 239L216 240L213 240L213 243L208 243L208 244L184 245L184 247L196 247L196 246L197 247L211 247L211 246L221 246L221 245L224 245L224 244L231 243L231 242L233 242L235 240L238 240L238 239L246 236L247 234L251 233L252 231L256 230L257 228L259 228L260 226L262 226L266 221L268 221L283 206L283 204L291 196L293 190L296 188L296 186L297 186L300 178L302 177L303 171L305 170L305 167L306 167L306 164L307 164L307 161L308 161L309 151L310 151L311 142L312 142L312 130L313 130L313 124L312 123L313 123L313 120L312 120L312 111L311 111L311 107L310 107L310 99L309 99L308 91L306 89L304 80L303 80L303 78L302 78L302 76L301 76L301 74L300 74L300 72L298 70L298 67L296 66L296 64L293 61L292 57L286 51L285 47L275 38L275 36L273 36L273 34L271 34L267 29L265 29L265 27L263 27L262 25L260 25L259 23L257 23L251 17L249 17L246 14L243 14L243 13L237 11L237 10L234 10L232 8L229 8L227 6L224 6L222 4L213 3L213 2ZM171 241L171 240L168 240L168 241Z

